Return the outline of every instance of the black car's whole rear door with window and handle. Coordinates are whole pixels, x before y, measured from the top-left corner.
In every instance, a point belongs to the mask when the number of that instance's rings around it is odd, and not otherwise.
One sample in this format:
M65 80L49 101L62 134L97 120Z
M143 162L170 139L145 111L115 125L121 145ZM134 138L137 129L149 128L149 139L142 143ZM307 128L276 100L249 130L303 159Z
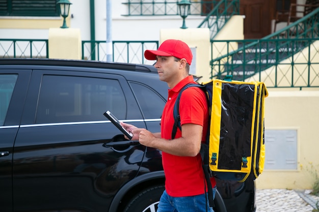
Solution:
M33 70L13 155L17 211L106 211L140 168L145 147L103 116L145 128L120 74Z

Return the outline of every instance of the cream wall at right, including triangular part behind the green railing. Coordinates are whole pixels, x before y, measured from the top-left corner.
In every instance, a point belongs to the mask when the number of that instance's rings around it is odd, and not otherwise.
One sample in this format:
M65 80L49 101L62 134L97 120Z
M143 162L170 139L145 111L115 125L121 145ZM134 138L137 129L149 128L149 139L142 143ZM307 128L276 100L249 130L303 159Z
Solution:
M314 42L309 48L294 55L296 86L307 84L308 72L307 59L309 52L311 63L319 63L317 49L319 41ZM271 67L261 74L261 81L265 84L273 84L277 76L279 86L290 86L287 79L291 79L293 71L289 65L291 58L281 62L282 65ZM319 86L318 73L319 65L313 64L310 67L310 79L312 86ZM297 70L305 70L301 74ZM254 79L252 77L248 81ZM280 80L279 80L280 79ZM269 89L269 97L265 99L265 130L297 130L297 170L264 170L256 179L259 189L280 188L280 189L311 189L315 180L313 172L319 171L319 88L272 88ZM266 142L267 152L267 142Z

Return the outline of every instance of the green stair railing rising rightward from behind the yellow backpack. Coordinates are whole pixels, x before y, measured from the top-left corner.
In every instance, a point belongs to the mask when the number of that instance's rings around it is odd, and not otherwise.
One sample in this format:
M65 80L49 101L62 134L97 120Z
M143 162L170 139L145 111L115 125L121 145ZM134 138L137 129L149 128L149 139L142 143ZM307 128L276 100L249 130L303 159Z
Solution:
M318 20L319 8L280 31L261 39L212 41L213 59L210 62L210 78L222 78L224 75L231 74L236 80L244 81L256 73L260 74L263 70L278 65L282 60L318 40ZM222 48L227 49L227 53L223 55L219 53L216 56L216 51L221 52L216 47L217 43L221 46L220 42L224 43Z

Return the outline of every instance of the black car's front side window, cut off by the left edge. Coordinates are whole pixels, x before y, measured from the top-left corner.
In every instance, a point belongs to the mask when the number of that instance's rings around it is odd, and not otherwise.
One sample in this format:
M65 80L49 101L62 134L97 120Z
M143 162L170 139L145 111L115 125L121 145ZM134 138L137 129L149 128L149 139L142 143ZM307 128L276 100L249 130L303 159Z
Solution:
M0 74L0 126L3 126L5 123L13 88L17 78L18 75L16 74Z

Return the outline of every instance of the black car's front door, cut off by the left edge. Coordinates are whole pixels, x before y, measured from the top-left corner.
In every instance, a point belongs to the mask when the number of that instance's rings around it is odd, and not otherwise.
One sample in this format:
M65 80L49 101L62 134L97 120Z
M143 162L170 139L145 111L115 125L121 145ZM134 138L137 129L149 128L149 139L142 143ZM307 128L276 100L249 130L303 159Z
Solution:
M0 205L12 208L13 144L19 129L31 70L0 69Z

